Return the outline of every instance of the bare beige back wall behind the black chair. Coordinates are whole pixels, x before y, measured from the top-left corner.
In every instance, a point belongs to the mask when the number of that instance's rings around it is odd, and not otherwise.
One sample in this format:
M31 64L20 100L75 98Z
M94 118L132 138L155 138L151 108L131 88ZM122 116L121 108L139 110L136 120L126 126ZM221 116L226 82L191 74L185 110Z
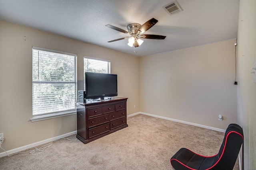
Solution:
M140 58L140 111L219 129L236 123L235 42Z

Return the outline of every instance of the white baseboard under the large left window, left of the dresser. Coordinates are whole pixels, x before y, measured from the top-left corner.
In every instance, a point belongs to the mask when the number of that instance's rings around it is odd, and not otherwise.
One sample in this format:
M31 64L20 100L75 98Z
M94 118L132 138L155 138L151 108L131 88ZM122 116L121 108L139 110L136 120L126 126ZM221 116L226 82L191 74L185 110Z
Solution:
M66 133L66 134L64 134L64 135L52 137L52 138L50 138L50 139L46 139L46 140L43 140L43 141L39 141L39 142L36 142L36 143L32 143L32 144L29 144L29 145L26 145L26 146L23 146L23 147L19 147L19 148L7 150L6 152L8 153L8 155L14 154L14 153L20 152L20 151L22 151L22 150L26 150L26 149L30 149L30 148L33 148L33 147L37 147L38 145L42 145L42 144L45 144L45 143L49 143L49 142L52 142L52 141L56 141L56 140L61 139L61 138L64 138L64 137L68 137L68 136L70 136L70 135L74 135L74 134L76 134L76 133L77 133L77 131L73 131L73 132L70 132L70 133ZM2 149L0 149L0 150L2 151ZM4 156L7 156L6 152L1 152L1 153L0 153L0 158L1 158L1 157L4 157Z

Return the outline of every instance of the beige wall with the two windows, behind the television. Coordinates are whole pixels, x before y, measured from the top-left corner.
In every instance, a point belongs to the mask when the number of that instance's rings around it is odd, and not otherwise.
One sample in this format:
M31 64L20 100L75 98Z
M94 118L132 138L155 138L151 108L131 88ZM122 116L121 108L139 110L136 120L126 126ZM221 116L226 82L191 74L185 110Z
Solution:
M76 115L31 122L32 46L78 55L78 90L83 90L83 57L111 61L118 74L118 96L128 97L127 113L139 111L139 58L0 21L0 133L5 150L76 131ZM2 151L0 151L2 152Z

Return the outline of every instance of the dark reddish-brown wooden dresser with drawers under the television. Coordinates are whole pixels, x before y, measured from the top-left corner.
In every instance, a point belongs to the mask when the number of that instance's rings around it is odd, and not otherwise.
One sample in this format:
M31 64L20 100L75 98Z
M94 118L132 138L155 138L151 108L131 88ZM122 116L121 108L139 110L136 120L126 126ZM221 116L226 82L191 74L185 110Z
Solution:
M89 143L128 127L127 99L115 97L111 100L77 103L77 139Z

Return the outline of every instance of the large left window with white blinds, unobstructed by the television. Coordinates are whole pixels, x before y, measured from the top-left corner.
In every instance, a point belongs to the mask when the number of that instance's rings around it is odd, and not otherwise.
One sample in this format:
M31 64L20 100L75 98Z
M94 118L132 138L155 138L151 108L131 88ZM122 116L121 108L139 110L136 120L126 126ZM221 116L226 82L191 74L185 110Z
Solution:
M76 54L32 47L32 114L39 121L76 113Z

